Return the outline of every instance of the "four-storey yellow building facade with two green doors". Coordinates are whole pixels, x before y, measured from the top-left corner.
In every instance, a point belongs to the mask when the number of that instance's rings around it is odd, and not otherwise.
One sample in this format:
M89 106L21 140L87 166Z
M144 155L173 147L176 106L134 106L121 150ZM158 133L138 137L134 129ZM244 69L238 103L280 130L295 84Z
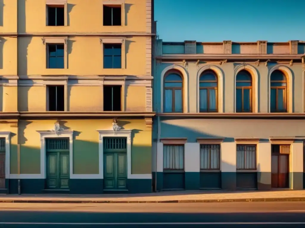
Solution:
M153 1L0 8L0 192L151 192Z

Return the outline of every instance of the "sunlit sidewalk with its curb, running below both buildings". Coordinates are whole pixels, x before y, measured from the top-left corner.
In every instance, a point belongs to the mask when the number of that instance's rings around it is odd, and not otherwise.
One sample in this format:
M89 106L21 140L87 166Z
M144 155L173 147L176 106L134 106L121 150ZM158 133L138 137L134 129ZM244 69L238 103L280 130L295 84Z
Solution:
M168 191L113 195L0 195L0 203L186 203L305 201L305 190Z

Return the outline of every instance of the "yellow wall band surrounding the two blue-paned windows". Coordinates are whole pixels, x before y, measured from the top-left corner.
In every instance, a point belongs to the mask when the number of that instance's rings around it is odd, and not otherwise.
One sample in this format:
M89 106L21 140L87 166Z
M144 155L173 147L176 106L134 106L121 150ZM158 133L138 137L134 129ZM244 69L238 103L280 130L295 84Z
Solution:
M125 42L126 69L103 69L103 52L99 37L72 37L67 42L68 69L46 68L46 45L42 37L18 39L20 75L145 75L146 37L128 38Z

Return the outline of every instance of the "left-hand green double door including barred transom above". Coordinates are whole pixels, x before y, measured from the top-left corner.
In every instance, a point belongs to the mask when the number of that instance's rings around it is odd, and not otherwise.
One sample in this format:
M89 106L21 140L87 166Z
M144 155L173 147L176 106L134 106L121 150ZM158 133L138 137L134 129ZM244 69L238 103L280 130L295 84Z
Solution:
M46 157L46 188L68 189L70 178L69 139L47 139Z

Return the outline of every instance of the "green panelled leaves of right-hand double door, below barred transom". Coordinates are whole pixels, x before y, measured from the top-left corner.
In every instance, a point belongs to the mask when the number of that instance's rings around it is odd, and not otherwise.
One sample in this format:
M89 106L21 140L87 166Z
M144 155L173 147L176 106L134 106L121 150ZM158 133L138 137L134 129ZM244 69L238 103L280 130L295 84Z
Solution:
M126 153L104 154L104 189L121 190L127 188Z

